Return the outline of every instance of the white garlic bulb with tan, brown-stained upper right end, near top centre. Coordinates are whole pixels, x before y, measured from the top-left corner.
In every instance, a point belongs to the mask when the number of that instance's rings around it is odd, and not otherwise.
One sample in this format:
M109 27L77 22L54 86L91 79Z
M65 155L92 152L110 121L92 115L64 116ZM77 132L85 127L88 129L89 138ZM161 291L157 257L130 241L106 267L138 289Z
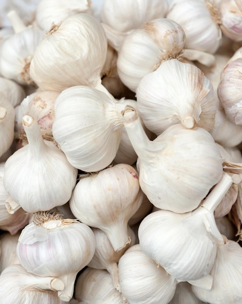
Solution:
M123 40L117 59L121 81L135 92L141 79L163 60L177 58L185 42L184 30L175 21L160 18L146 22Z

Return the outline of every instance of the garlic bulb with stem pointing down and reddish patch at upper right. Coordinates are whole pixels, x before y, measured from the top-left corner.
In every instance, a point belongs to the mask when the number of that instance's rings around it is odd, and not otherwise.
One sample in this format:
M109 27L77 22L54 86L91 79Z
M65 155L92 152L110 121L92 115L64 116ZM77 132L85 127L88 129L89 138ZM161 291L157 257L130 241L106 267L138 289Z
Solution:
M77 219L104 231L114 251L119 251L131 241L128 221L142 200L136 170L127 164L117 164L84 174L75 186L69 204Z

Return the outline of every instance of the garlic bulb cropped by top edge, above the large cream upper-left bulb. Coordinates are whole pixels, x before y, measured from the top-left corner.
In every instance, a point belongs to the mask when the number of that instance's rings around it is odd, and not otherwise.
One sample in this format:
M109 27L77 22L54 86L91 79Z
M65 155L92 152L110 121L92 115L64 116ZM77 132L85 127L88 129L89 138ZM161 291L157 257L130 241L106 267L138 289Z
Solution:
M52 23L58 24L71 15L84 13L91 5L90 0L40 0L35 19L41 29L48 31Z

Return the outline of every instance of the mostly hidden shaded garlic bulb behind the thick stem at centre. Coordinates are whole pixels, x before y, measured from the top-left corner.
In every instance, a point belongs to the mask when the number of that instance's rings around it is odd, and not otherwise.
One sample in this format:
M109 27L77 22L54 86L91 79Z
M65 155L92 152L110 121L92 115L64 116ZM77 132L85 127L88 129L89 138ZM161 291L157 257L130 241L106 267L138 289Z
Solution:
M137 110L137 101L131 100L131 99L124 99L122 98L119 100L119 103L123 104L124 107L126 105L132 106L134 109ZM141 123L143 128L145 129L146 135L151 138L151 131L148 130L145 127L144 121L141 119ZM137 161L137 154L133 149L133 146L129 140L129 135L125 129L125 127L122 127L122 135L121 140L118 146L117 153L113 159L113 164L128 164L133 165Z

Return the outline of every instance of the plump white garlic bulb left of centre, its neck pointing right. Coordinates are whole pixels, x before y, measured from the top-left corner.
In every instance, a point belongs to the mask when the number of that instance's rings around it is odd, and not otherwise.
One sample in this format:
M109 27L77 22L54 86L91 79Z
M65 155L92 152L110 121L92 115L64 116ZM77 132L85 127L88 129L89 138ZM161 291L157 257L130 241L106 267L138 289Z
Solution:
M121 140L124 107L85 85L67 88L58 96L52 133L73 167L95 172L112 163Z

